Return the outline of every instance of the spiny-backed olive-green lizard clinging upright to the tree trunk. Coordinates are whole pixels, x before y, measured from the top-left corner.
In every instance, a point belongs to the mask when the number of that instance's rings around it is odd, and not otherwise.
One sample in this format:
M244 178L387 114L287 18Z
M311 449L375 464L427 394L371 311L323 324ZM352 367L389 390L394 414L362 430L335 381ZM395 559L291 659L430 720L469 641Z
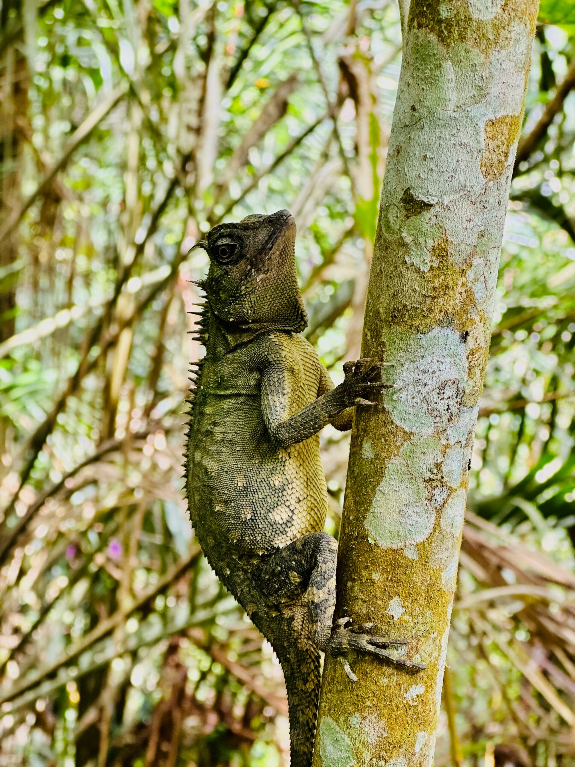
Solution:
M320 430L349 430L356 407L388 384L381 363L343 365L334 387L302 331L296 226L287 210L215 225L194 247L209 255L192 369L185 455L195 535L225 587L269 640L288 693L291 767L309 767L320 653L359 650L421 669L389 640L334 621L337 542L323 532L327 486Z

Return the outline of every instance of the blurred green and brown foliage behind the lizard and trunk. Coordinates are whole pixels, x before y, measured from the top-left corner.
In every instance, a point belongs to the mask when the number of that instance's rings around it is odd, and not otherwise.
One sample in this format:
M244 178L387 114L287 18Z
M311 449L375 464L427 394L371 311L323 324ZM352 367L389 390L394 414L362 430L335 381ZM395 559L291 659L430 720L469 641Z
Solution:
M2 0L0 765L288 763L271 647L182 500L189 250L287 207L307 337L360 351L391 0ZM575 10L544 0L437 765L575 764ZM337 535L347 436L324 430Z

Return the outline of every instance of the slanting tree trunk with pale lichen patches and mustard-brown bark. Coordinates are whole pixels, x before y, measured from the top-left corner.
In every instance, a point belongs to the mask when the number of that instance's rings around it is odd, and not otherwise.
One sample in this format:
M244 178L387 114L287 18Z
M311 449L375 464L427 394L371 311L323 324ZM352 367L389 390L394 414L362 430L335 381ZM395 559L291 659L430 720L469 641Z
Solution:
M468 470L537 0L412 0L363 330L385 407L353 426L336 617L410 671L326 657L314 765L431 765Z

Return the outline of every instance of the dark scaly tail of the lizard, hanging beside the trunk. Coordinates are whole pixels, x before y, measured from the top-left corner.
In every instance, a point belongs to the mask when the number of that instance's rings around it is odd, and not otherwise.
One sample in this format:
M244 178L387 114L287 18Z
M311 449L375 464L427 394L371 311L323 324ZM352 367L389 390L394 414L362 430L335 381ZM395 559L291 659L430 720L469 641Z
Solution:
M294 643L280 662L288 691L290 767L310 767L320 703L320 653L311 643L305 649Z

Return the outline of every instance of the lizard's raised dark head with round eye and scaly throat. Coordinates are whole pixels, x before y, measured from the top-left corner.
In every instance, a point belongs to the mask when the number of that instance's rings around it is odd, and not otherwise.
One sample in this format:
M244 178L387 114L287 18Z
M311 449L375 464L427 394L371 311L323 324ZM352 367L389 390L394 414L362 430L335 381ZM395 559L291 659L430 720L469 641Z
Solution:
M297 286L290 212L218 224L199 245L209 255L204 288L219 321L241 330L304 330L307 315Z

